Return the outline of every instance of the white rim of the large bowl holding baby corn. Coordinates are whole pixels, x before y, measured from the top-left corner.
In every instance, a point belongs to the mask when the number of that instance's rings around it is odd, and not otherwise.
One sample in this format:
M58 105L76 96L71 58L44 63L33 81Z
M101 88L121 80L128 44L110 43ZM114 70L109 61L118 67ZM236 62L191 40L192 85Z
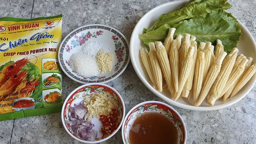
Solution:
M144 17L146 17L147 15L149 15L151 12L155 11L156 9L159 9L163 6L169 5L169 4L175 4L175 3L183 3L183 0L179 0L179 1L174 1L174 2L169 2L169 3L165 3L165 4L161 4L153 9L151 9L150 11L148 11L146 14L143 15L143 17L140 18L140 20L138 21L138 23L136 24L136 26L134 27L134 29L136 29L139 24L141 23L141 21L144 19ZM249 32L249 30L242 24L242 22L240 22L238 20L238 25L241 27L241 29L244 29L244 31L246 31L246 33L249 35L249 38L252 39L253 43L253 47L256 49L256 43L255 40L252 36L252 34ZM130 46L133 45L133 39L138 38L138 36L135 34L134 29L132 31L132 35L131 35L131 39L130 39ZM228 101L224 104L218 105L218 106L209 106L209 107L195 107L192 105L186 105L186 104L182 104L179 103L177 101L174 101L170 98L167 98L166 96L164 96L162 93L156 91L155 88L153 88L148 82L147 80L141 75L139 68L136 65L136 61L135 61L135 57L132 54L133 49L131 47L129 47L129 53L130 53L130 58L131 58L131 62L132 62L132 66L136 72L136 74L138 75L138 77L140 78L140 80L142 81L142 83L151 91L153 92L156 96L158 96L159 98L161 98L162 100L180 107L180 108L184 108L184 109L189 109L189 110L196 110L196 111L211 111L211 110L218 110L218 109L222 109L222 108L226 108L228 106L231 106L233 104L235 104L236 102L240 101L241 99L243 99L253 88L255 82L256 82L256 78L253 80L253 84L250 86L250 88L248 89L247 92L243 93L242 96L239 97L239 99L234 100L234 101Z

